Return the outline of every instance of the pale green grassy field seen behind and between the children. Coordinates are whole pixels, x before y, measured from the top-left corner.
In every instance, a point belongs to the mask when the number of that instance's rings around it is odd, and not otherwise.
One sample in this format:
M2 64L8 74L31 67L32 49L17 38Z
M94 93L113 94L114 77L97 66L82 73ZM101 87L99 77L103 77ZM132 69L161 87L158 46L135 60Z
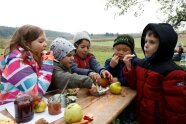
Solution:
M101 65L104 65L105 60L110 58L113 54L113 40L114 39L93 39L91 41L91 52L95 55L96 59ZM3 53L3 48L7 45L8 39L0 39L0 53ZM50 44L51 41L48 41ZM180 34L178 42L182 42L184 44L184 50L186 52L186 34ZM135 38L135 51L139 58L143 58L143 52L141 50L140 38Z

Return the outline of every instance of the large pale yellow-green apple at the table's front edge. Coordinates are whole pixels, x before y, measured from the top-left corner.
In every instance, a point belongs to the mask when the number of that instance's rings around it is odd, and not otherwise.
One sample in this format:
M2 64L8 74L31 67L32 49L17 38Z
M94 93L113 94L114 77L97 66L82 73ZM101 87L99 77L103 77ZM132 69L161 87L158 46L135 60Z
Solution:
M83 110L77 103L71 103L65 108L64 119L65 122L71 124L80 122L83 118Z

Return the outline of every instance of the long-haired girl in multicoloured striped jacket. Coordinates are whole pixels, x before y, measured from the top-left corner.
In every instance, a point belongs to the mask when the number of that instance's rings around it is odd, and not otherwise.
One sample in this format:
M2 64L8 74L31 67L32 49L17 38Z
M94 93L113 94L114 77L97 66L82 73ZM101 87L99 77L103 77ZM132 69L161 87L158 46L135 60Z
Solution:
M19 93L44 94L53 71L52 52L47 49L44 31L33 25L17 29L0 61L1 96L3 104L13 101Z

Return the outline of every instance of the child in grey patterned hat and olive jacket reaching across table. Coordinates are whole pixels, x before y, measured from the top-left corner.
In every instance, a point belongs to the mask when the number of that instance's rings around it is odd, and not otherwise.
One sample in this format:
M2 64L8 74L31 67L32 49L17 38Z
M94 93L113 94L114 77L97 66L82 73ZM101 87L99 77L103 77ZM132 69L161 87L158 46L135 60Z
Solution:
M91 88L93 81L85 75L71 73L71 65L74 62L75 47L64 38L56 38L50 45L50 50L53 51L54 72L52 83L49 90L64 89L66 83L67 88ZM68 82L68 80L70 80Z

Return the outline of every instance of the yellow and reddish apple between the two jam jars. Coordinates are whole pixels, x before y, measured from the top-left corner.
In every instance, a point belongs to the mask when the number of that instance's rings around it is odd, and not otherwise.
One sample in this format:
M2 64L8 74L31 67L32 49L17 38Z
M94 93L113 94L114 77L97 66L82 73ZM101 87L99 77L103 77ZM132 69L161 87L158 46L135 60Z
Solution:
M34 112L44 112L47 107L45 101L41 100L37 104L34 105Z

